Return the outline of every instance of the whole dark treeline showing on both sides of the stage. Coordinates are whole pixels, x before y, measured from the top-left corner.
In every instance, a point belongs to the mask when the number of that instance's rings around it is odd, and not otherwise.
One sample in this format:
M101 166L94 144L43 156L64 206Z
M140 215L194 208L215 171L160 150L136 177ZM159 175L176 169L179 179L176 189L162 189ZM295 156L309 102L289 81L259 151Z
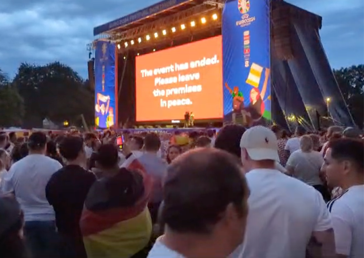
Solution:
M355 120L364 123L364 65L333 70ZM22 63L13 80L0 69L0 127L41 127L43 120L62 125L94 124L94 91L71 67L54 62L46 66Z

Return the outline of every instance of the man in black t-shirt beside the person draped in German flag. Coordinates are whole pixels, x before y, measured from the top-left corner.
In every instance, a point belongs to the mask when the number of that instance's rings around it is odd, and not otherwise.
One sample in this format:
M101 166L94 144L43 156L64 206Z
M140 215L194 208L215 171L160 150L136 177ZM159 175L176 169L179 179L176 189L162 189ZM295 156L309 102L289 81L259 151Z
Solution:
M96 177L86 169L83 139L68 136L59 145L66 164L46 186L46 197L56 214L60 258L86 258L79 222L88 190Z

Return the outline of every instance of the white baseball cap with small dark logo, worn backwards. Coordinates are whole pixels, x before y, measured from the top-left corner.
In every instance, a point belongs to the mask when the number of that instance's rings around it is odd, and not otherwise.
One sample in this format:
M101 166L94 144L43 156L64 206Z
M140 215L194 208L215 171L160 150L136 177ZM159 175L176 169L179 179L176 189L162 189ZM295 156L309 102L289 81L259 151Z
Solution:
M275 160L279 162L276 134L264 126L253 126L244 132L240 148L246 149L252 160Z

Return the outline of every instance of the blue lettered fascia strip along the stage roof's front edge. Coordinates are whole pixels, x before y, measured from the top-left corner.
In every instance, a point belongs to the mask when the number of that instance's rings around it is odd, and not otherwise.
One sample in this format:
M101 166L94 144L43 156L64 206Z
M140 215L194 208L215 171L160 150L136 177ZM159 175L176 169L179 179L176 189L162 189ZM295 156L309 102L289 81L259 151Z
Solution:
M153 4L149 7L133 12L119 19L110 21L94 28L94 36L99 34L115 34L134 27L141 26L144 23L151 22L174 13L189 9L202 3L221 3L221 0L164 0Z

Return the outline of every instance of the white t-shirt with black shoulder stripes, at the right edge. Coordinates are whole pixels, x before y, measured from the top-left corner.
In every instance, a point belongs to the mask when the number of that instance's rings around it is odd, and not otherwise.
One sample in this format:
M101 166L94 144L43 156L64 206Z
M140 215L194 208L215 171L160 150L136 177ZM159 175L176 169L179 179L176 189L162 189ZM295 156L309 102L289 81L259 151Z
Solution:
M364 257L364 185L350 187L327 204L331 211L336 253Z

